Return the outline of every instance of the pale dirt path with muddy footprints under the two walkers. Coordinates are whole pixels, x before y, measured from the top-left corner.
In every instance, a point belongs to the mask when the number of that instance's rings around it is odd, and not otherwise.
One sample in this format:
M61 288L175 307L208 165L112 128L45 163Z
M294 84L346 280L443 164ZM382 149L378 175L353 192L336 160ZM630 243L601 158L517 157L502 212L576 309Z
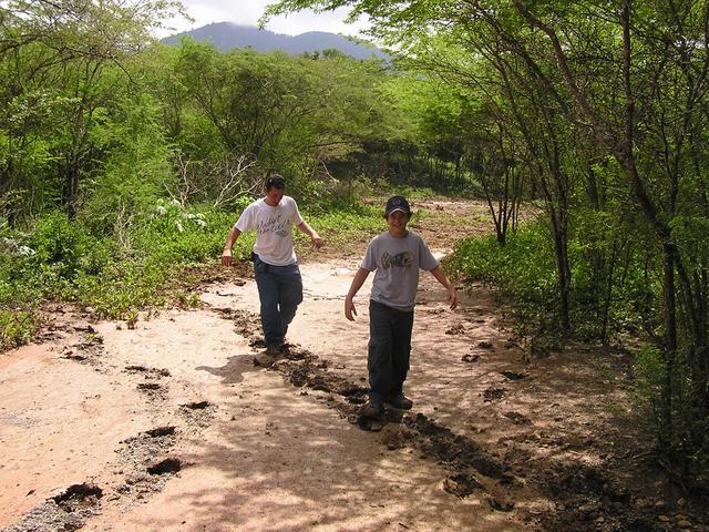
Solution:
M480 203L414 208L440 255L490 231ZM358 321L342 309L366 242L302 254L306 300L277 358L248 273L217 269L203 308L134 328L56 307L41 344L0 357L2 530L709 530L630 422L628 355L531 358L482 285L451 313L424 274L414 407L360 423L369 283Z

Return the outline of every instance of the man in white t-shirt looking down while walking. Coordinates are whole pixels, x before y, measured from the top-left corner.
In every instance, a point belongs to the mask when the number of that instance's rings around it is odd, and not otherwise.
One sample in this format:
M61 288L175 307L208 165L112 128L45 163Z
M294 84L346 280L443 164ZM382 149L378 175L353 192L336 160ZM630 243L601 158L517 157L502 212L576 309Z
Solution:
M266 194L244 209L234 224L222 252L222 264L232 265L232 247L242 233L256 231L251 253L266 354L278 355L288 325L302 301L302 279L292 245L292 226L310 237L312 246L322 247L322 238L302 219L296 201L285 195L286 182L279 174L266 180Z

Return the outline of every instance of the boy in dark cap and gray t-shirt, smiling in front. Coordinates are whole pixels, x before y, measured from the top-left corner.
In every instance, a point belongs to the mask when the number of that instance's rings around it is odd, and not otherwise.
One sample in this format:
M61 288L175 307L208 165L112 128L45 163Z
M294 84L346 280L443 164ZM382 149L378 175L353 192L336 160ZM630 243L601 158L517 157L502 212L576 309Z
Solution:
M374 272L369 304L369 402L361 411L363 417L373 419L382 417L384 403L398 409L413 406L403 395L403 382L409 371L419 269L431 272L445 287L451 309L458 306L455 288L423 238L407 231L411 217L409 202L402 196L390 197L384 217L389 231L369 243L345 298L345 316L353 321L357 316L354 295L370 272Z

